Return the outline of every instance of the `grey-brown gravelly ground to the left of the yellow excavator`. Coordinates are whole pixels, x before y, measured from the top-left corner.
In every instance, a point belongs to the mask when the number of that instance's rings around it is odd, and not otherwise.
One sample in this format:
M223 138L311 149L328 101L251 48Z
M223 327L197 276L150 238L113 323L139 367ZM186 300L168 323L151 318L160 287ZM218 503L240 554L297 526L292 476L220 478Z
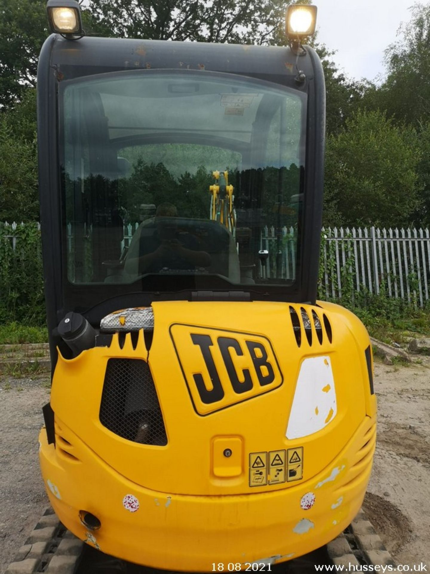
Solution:
M48 506L37 440L49 400L47 379L0 378L0 572Z

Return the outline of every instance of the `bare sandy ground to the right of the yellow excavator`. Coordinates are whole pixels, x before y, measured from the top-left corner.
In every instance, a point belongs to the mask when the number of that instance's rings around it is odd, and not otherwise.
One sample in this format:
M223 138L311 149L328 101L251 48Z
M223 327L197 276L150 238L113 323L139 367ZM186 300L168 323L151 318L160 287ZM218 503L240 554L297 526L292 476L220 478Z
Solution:
M430 569L430 367L377 363L378 436L364 508L398 564Z

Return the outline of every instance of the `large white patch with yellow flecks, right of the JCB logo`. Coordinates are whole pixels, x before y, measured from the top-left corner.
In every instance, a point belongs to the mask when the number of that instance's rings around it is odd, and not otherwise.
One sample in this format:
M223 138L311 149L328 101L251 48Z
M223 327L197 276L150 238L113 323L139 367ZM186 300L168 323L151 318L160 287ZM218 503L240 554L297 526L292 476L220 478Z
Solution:
M300 439L325 428L337 413L330 357L303 360L292 401L287 439Z

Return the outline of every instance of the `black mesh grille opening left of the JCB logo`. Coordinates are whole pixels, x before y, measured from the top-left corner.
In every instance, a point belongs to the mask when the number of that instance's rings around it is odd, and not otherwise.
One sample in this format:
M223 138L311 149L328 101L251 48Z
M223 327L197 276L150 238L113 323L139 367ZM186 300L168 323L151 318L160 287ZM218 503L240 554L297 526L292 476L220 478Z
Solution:
M101 395L100 422L140 444L167 444L166 429L148 364L140 359L109 359Z

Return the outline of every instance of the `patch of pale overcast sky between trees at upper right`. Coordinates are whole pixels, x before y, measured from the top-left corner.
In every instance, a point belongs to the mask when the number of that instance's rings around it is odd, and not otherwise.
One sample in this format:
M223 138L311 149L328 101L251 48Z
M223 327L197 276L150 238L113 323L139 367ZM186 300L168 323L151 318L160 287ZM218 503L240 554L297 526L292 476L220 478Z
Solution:
M400 23L411 19L414 0L313 0L318 41L348 76L368 80L384 73L384 50L396 41Z

